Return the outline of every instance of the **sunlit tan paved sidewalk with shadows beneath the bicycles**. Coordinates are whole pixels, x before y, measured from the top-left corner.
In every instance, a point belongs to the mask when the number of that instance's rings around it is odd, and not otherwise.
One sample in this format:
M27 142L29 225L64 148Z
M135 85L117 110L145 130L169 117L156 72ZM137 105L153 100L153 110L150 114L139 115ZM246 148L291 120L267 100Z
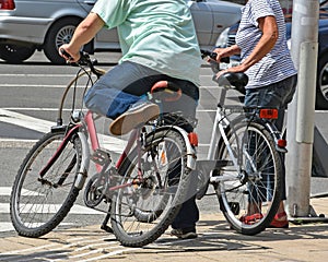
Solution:
M313 199L317 214L328 216L328 199ZM328 224L290 224L289 229L267 229L244 236L229 229L222 214L202 214L199 237L178 240L169 231L144 248L125 248L98 225L58 229L39 239L0 238L0 261L326 261Z

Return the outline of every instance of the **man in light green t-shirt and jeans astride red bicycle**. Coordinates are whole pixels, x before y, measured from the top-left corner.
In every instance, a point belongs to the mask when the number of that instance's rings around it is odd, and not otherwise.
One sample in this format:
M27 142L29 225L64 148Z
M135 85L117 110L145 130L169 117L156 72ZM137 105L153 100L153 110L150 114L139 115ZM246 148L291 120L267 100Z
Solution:
M178 85L183 96L161 109L195 118L201 55L186 1L98 0L71 41L59 47L59 53L78 61L81 47L104 26L117 27L122 58L95 83L84 102L89 109L114 119L109 131L125 134L155 118L160 108L147 102L144 94L163 80ZM192 131L191 127L185 129ZM187 202L173 223L177 237L197 237L195 224L199 214L195 198Z

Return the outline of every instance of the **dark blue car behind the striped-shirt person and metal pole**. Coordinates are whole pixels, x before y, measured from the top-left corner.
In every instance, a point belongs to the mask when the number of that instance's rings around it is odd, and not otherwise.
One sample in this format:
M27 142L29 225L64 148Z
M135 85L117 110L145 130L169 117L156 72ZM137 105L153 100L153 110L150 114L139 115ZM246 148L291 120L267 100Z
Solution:
M286 38L291 43L292 23L288 16ZM218 38L216 46L226 47L235 44L238 23L224 29ZM318 63L316 84L316 109L328 109L328 0L320 0L320 12L318 21ZM289 45L290 46L290 45ZM238 56L232 57L232 64L237 64Z

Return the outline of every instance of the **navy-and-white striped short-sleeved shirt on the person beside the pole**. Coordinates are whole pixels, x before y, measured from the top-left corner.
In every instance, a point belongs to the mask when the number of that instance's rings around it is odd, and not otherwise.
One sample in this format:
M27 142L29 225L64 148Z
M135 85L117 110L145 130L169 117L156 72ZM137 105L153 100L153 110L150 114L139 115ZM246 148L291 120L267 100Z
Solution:
M279 37L270 52L245 72L249 78L246 88L267 86L296 74L286 46L285 22L278 0L248 0L242 8L242 21L236 34L236 44L242 49L242 62L262 36L258 19L268 15L276 17Z

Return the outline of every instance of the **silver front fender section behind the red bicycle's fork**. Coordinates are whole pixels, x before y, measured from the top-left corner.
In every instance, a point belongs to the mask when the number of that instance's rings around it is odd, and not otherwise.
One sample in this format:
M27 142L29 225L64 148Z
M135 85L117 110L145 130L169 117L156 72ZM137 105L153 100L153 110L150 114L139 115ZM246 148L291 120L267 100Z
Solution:
M79 138L81 140L81 144L82 144L82 160L81 160L81 166L80 166L79 174L77 176L74 187L78 189L82 189L84 186L84 182L86 180L87 170L89 170L89 166L90 166L90 148L89 148L87 140L86 140L84 133L78 132L78 135L79 135Z

